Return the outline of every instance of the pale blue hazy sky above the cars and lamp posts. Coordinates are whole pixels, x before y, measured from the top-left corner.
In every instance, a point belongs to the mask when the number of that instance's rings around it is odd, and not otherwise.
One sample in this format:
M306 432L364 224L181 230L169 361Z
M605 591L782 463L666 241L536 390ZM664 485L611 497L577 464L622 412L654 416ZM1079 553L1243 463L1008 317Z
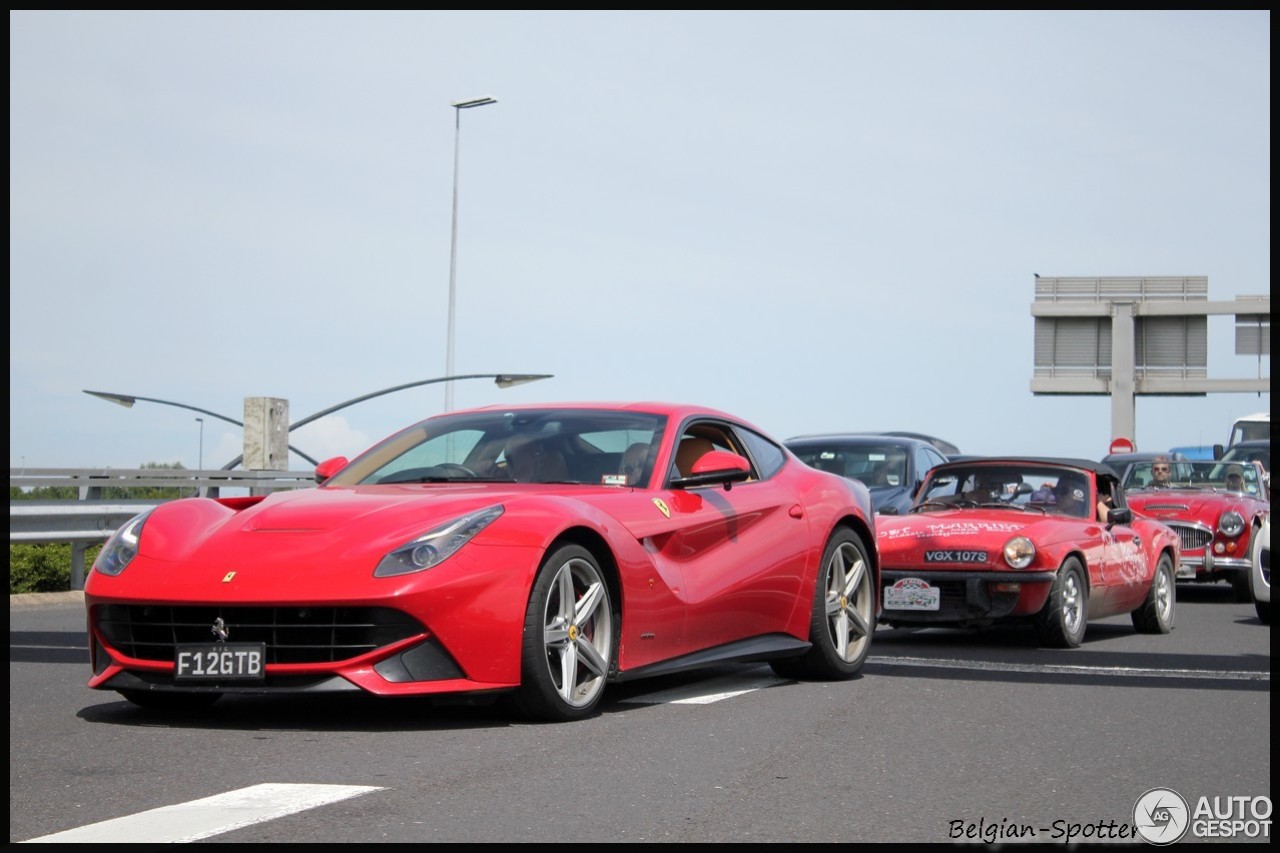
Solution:
M219 467L445 375L1101 457L1030 392L1034 274L1270 291L1262 12L10 12L9 464ZM1210 320L1211 378L1270 377ZM1270 393L1137 402L1139 450ZM444 409L291 435L355 455ZM291 457L291 467L307 464Z

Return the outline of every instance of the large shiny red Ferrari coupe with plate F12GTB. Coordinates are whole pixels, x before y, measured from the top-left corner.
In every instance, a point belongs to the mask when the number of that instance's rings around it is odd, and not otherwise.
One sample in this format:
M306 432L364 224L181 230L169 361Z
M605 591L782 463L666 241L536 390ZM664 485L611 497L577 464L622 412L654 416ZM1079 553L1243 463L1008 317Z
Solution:
M429 418L316 488L183 498L84 584L91 688L506 695L535 720L726 661L850 679L878 617L864 485L727 414L664 403Z

